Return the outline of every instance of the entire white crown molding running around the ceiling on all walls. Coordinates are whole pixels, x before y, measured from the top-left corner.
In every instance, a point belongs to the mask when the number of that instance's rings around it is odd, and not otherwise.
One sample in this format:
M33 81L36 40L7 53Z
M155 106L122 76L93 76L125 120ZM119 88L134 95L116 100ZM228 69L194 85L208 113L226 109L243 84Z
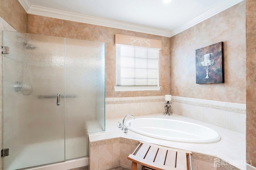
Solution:
M46 16L50 18L58 18L62 20L69 20L69 21L76 21L81 23L88 23L93 25L99 25L104 27L112 27L116 29L124 29L128 31L135 31L135 32L141 32L141 33L147 33L147 34L153 34L153 35L159 35L163 37L172 37L236 4L239 2L242 2L243 0L224 0L220 3L218 3L216 6L211 8L210 10L207 10L207 12L204 12L200 16L176 27L172 30L166 30L166 29L159 29L159 28L153 28L153 27L146 27L142 25L136 25L121 21L114 21L114 20L107 20L104 18L98 18L93 16L86 16L82 14L75 14L72 12L65 12L61 10L54 10L51 8L45 8L41 6L34 6L31 5L28 0L18 0L24 10L28 14L34 14L39 16Z

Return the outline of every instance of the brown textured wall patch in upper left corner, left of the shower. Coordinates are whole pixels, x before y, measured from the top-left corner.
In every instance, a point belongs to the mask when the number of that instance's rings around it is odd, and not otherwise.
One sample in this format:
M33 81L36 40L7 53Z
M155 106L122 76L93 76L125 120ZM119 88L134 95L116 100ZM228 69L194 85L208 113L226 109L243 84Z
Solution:
M27 13L18 0L0 0L0 17L18 32L27 31Z

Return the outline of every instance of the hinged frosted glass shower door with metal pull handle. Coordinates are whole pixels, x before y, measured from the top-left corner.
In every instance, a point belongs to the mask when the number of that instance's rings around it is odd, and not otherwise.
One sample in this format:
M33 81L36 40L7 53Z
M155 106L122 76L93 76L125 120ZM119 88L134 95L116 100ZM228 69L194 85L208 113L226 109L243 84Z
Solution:
M4 170L64 161L64 38L4 31L3 46Z

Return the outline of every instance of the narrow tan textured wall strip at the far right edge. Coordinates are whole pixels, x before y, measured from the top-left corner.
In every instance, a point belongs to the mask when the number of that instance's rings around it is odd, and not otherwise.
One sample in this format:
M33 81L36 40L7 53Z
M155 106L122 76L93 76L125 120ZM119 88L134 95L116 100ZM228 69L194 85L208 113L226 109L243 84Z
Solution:
M256 1L246 0L246 160L256 167Z

